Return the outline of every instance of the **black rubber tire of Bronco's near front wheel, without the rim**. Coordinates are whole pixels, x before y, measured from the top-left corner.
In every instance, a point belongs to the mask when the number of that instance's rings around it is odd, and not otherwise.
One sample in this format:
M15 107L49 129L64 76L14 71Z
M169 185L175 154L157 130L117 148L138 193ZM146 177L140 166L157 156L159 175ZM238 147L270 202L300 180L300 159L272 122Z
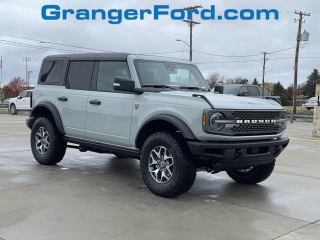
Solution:
M172 177L165 183L154 180L148 169L149 154L159 145L170 151L174 161ZM163 197L174 197L185 193L192 186L196 176L193 157L184 138L173 131L155 132L146 138L140 152L140 169L147 188Z

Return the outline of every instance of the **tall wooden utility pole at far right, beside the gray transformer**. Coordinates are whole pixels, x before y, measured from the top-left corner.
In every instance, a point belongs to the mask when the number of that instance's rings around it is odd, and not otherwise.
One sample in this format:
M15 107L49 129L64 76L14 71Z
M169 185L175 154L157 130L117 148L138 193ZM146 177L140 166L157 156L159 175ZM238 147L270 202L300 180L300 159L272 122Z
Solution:
M296 34L296 47L295 47L295 58L294 58L294 90L293 90L293 113L296 112L296 95L297 95L297 78L298 78L298 57L299 57L299 47L300 47L300 41L301 41L301 24L302 24L302 18L304 16L310 16L308 13L302 13L295 11L295 14L299 14L298 21L298 32ZM295 19L294 19L295 20ZM296 21L296 20L295 20Z

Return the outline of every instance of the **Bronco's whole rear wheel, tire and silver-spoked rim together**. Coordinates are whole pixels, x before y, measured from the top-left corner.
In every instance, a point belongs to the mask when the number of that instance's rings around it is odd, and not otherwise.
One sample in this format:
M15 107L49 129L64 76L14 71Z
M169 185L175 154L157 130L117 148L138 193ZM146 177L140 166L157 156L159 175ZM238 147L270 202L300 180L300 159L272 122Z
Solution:
M35 160L44 165L61 161L66 150L66 142L54 120L43 116L37 118L32 125L30 143Z

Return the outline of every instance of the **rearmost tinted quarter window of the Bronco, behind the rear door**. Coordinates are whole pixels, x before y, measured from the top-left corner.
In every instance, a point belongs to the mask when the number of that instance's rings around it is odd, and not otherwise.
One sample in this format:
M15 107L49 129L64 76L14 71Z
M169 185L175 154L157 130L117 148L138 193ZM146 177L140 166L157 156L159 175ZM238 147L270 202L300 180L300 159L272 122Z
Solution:
M45 61L42 67L40 82L60 82L62 66L63 61Z

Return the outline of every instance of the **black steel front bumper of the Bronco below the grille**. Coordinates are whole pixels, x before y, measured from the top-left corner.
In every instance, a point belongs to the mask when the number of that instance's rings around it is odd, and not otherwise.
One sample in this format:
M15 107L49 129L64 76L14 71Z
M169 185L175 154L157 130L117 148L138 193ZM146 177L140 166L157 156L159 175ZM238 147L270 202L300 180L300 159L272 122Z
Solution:
M193 156L213 160L213 170L243 169L265 164L277 157L287 146L289 138L236 142L188 141Z

